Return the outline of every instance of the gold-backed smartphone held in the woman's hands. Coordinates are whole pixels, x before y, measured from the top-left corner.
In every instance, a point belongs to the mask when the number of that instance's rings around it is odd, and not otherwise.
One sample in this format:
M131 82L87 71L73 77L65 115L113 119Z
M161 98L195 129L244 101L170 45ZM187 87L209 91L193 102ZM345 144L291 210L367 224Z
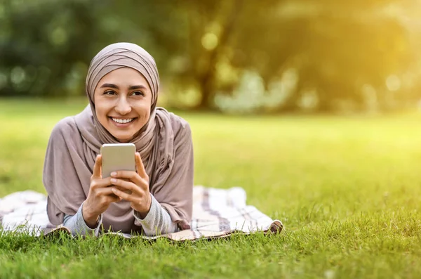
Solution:
M101 146L102 178L113 171L136 171L136 147L133 143L105 143Z

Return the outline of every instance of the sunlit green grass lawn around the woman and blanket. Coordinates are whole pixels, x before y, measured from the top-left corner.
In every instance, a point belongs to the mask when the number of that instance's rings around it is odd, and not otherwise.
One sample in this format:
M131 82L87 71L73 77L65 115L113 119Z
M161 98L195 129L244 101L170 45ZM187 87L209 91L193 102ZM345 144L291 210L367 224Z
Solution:
M0 196L45 192L49 133L84 105L0 99ZM195 183L245 188L283 233L185 243L3 234L0 278L419 278L421 115L181 115Z

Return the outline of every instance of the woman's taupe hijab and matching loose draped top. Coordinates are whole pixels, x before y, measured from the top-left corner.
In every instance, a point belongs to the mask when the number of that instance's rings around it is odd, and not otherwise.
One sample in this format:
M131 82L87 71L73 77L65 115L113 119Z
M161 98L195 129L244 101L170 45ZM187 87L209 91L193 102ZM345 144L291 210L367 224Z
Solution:
M93 60L86 77L90 105L79 115L66 117L54 127L46 151L43 182L48 193L47 212L59 225L65 214L74 215L89 192L95 157L103 143L118 143L98 122L93 94L105 74L120 67L138 70L152 91L151 116L134 143L149 175L149 190L182 229L192 217L193 150L189 125L182 118L156 108L159 74L154 58L135 44L111 44ZM102 214L107 231L130 233L133 209L126 201L112 203Z

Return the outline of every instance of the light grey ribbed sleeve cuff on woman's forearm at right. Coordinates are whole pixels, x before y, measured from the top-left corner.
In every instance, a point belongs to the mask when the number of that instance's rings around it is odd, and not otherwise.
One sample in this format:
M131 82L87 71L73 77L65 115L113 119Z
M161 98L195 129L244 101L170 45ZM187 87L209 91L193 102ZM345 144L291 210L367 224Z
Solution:
M178 231L177 223L171 220L170 214L161 207L159 202L151 195L151 208L145 219L141 219L139 212L134 211L135 223L143 228L145 235L160 235Z

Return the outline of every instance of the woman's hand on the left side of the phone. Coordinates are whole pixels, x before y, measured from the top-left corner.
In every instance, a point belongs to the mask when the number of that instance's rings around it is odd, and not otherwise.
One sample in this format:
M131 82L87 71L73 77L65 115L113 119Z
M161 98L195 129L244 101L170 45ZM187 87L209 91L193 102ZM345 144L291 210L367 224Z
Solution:
M88 197L83 202L82 215L86 225L95 228L100 214L105 212L112 202L119 202L121 199L112 192L111 177L102 179L101 176L102 157L98 155L93 166L91 186L89 186Z

